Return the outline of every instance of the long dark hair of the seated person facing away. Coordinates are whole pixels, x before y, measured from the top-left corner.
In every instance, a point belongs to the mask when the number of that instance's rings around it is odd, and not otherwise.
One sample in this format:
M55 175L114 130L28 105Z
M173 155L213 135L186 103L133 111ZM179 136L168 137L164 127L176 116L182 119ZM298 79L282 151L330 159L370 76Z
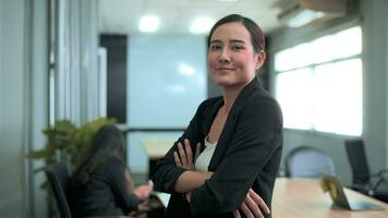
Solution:
M124 159L124 138L114 125L105 125L97 131L87 157L75 170L75 179L86 183L89 174L108 157Z

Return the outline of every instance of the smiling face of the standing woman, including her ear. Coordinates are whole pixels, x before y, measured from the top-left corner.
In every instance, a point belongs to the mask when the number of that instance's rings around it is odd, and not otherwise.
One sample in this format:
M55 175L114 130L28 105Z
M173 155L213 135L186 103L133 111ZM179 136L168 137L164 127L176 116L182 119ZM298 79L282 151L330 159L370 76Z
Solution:
M222 24L210 38L209 73L223 87L244 86L262 66L263 56L264 52L254 52L251 35L243 24Z

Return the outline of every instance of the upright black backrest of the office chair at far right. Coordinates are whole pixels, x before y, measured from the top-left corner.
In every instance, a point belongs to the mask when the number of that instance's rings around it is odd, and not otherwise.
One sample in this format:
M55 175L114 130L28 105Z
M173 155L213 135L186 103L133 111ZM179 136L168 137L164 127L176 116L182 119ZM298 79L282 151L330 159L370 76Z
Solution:
M344 141L348 159L352 168L353 184L365 185L369 181L369 167L361 138Z

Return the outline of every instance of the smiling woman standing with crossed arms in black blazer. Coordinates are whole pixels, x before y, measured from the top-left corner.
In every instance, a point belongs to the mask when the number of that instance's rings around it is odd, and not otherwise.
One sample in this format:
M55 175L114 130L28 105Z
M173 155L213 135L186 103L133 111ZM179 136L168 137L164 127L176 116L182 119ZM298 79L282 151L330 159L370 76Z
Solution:
M241 213L259 217L257 205L269 217L265 204L270 206L280 165L282 116L256 77L266 59L264 35L252 20L231 14L214 25L208 48L209 73L222 96L199 105L183 135L158 162L155 189L171 193L169 218ZM195 145L202 153L194 169Z

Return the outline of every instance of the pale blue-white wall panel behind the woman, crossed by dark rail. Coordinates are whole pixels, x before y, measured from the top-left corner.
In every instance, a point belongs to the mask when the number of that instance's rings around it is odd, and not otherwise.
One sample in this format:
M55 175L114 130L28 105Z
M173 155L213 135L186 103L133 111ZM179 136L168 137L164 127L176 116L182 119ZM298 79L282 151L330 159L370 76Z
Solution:
M128 44L126 118L130 129L185 129L207 97L206 38L131 35ZM140 141L177 140L182 132L129 132L128 164L147 172Z

